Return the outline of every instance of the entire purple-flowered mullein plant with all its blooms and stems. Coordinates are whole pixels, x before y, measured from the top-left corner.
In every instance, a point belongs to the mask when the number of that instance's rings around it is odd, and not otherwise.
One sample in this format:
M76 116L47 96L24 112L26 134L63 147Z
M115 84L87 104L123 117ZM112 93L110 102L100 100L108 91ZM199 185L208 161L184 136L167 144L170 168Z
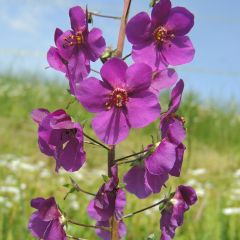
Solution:
M55 31L55 47L47 53L48 63L65 74L70 94L94 114L91 126L99 140L89 136L64 109L51 112L39 108L32 111L32 118L38 124L40 151L56 160L57 172L60 168L75 172L81 171L87 161L84 144L95 144L107 152L108 176L103 178L97 193L83 191L91 195L86 210L95 225L69 219L54 197L33 199L31 206L36 211L28 228L35 238L80 239L68 234L68 225L75 224L95 229L100 239L122 239L127 234L128 218L158 206L161 240L169 240L183 224L185 212L197 201L193 188L180 185L155 204L124 214L126 192L145 199L166 188L170 176L180 176L186 131L184 119L177 111L184 82L169 66L188 63L195 53L187 36L194 25L194 16L186 8L172 7L170 0L152 1L150 15L140 12L128 21L130 5L131 0L124 0L115 50L106 48L99 28L89 28L95 13L85 7L69 10L70 30ZM132 44L132 51L122 57L125 36ZM133 60L130 66L125 62L128 57ZM91 62L98 59L103 63L99 79L89 76ZM159 96L164 89L171 89L171 93L169 107L163 112ZM128 137L131 128L144 128L157 120L160 140L150 142L141 151L133 149L135 153L115 158L117 145ZM118 168L123 164L129 169L120 178ZM73 179L72 183L78 186ZM138 233L135 234L135 239L139 239Z

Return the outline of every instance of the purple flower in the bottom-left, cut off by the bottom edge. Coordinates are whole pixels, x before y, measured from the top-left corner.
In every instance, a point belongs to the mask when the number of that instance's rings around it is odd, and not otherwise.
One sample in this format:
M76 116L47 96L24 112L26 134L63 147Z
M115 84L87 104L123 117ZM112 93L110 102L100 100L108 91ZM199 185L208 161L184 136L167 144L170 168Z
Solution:
M36 238L43 240L67 240L63 229L64 217L53 197L35 198L31 206L36 208L28 224L28 229Z

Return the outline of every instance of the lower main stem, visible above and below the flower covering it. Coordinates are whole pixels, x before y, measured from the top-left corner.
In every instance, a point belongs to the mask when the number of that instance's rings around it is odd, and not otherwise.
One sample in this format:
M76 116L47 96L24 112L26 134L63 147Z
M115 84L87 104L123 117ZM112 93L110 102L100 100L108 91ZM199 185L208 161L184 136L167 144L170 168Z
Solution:
M108 177L112 177L111 167L114 165L115 159L115 146L109 146L108 150ZM111 222L111 240L118 240L118 222L116 221L115 217L113 216L110 220Z

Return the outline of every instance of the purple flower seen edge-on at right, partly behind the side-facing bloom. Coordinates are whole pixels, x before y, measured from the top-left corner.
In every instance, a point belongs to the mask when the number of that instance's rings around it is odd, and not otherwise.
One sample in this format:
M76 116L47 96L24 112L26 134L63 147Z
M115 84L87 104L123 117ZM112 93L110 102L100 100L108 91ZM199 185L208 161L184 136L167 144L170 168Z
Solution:
M160 128L162 132L162 138L167 138L168 141L176 144L176 162L170 174L173 176L180 176L185 145L182 143L186 137L186 131L184 128L183 118L176 115L178 110L182 92L184 88L183 80L180 80L173 88L171 93L170 106L166 113L161 116Z

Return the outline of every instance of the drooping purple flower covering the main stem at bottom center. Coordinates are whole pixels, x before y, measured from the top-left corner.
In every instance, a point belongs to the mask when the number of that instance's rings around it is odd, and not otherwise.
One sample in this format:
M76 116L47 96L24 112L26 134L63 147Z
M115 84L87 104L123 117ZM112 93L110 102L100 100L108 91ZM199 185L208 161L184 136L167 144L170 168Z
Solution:
M99 189L88 205L88 214L97 221L108 221L111 217L120 220L126 205L125 192L118 188L117 167L112 167L112 177Z

